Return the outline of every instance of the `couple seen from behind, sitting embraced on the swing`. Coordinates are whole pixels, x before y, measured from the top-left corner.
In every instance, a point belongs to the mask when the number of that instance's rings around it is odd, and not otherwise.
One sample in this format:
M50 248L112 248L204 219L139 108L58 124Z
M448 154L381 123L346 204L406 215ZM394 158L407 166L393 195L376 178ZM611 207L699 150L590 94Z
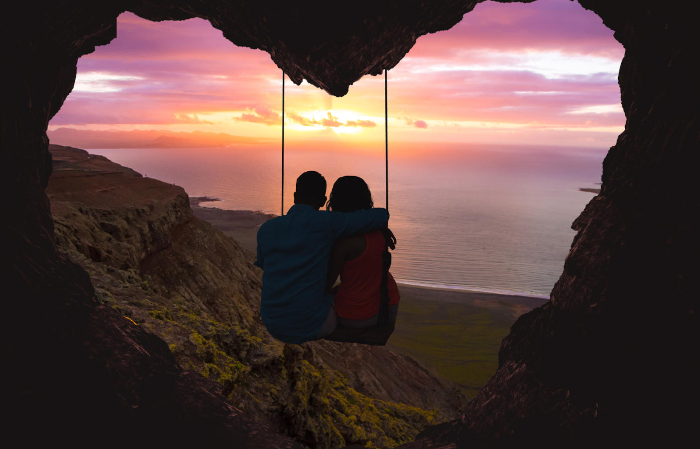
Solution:
M373 207L370 188L359 177L335 181L327 204L325 190L320 173L302 173L294 205L258 230L260 315L269 333L285 343L318 340L338 325L377 324L388 211ZM327 210L319 210L323 205ZM391 274L386 286L394 322L399 294Z

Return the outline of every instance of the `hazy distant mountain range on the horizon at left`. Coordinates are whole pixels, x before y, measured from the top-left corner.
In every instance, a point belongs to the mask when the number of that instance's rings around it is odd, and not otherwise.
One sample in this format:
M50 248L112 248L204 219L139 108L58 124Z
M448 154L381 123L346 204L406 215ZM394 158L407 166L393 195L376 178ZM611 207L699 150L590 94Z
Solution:
M258 144L268 139L235 136L225 132L167 131L167 130L76 130L59 127L48 131L52 144L77 146L80 148L200 148Z

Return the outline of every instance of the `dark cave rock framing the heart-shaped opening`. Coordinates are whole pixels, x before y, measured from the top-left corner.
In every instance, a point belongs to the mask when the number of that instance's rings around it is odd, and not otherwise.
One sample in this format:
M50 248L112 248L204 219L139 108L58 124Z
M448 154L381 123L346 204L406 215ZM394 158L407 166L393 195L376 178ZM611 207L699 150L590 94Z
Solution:
M601 193L573 223L577 235L552 300L513 326L496 375L458 420L426 429L407 447L673 446L694 438L696 8L683 1L578 1L625 48L619 85L626 125L603 163ZM45 130L71 91L78 57L116 36L119 13L207 18L233 43L267 51L295 83L307 79L343 95L361 76L391 69L418 36L448 29L475 4L356 1L342 14L320 1L8 8L1 19L8 69L0 118L6 429L26 441L126 443L139 435L155 443L295 444L258 431L212 393L211 382L179 369L160 338L101 305L85 270L56 249L45 195L52 170Z

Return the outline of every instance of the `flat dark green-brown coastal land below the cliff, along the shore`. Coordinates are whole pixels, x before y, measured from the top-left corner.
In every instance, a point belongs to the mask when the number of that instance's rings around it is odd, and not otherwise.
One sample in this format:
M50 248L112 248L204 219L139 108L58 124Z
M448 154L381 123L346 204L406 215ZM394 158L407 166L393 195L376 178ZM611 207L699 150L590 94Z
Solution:
M275 215L205 207L216 198L190 197L197 218L237 240L255 257L258 228ZM498 368L500 341L517 317L547 300L399 282L401 302L388 347L410 355L473 397Z

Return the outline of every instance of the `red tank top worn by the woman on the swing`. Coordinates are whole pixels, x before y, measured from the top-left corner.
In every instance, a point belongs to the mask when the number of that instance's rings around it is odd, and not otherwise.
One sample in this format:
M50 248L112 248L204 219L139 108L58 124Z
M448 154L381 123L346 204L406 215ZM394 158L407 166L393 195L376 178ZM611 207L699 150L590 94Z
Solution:
M365 233L365 251L343 265L340 288L335 294L335 311L339 317L361 321L379 313L381 253L385 245L381 230ZM386 287L389 305L398 304L398 288L391 273L388 273Z

